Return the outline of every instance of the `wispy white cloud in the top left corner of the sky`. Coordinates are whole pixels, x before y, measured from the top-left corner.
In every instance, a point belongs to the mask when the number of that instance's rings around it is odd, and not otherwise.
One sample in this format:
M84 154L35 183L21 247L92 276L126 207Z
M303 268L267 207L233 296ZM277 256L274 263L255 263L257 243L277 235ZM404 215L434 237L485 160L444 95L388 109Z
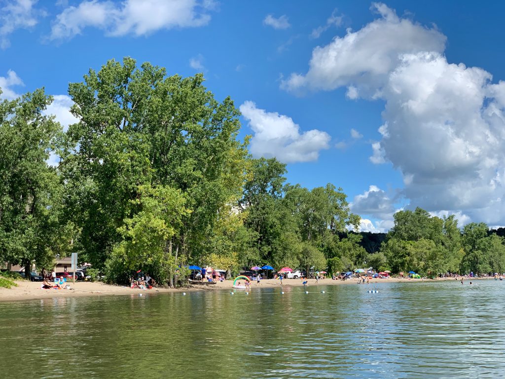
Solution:
M7 1L0 8L0 49L7 49L11 45L9 35L16 29L29 29L38 22L38 17L44 13L34 9L37 0Z

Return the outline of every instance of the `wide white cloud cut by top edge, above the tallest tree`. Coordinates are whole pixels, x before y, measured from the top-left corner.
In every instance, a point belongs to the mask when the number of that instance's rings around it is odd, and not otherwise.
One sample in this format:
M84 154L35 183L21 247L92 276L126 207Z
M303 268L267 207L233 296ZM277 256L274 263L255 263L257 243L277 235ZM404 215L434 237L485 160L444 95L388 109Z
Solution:
M86 27L108 36L146 35L161 29L197 27L209 23L214 3L197 0L86 0L60 13L50 39L72 38Z

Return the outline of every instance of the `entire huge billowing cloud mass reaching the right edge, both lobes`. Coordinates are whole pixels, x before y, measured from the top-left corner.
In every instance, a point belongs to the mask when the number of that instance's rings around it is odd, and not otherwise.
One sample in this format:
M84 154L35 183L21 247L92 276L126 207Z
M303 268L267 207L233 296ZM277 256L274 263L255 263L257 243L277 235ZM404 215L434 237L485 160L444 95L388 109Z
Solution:
M370 160L401 172L411 206L455 213L460 223L505 223L505 82L448 62L435 28L383 4L374 9L378 19L314 49L308 72L282 86L347 87L349 98L381 99L384 124Z

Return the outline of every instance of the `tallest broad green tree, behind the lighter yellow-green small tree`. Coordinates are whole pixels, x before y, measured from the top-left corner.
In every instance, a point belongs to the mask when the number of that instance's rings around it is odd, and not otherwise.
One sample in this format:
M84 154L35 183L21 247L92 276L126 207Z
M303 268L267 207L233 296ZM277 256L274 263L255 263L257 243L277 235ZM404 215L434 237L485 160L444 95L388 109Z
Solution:
M241 196L247 141L237 140L239 112L203 82L200 74L166 76L164 68L137 68L124 58L69 85L80 121L69 128L61 166L78 188L69 209L93 264L124 240L143 186L171 187L185 198L189 212L165 244L176 262L205 254L219 212Z

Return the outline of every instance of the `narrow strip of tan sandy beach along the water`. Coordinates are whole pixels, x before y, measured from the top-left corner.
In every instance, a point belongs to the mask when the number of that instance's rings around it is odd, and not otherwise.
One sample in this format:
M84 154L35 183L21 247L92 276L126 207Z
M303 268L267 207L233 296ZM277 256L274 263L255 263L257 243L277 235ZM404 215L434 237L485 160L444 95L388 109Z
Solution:
M423 283L435 281L455 281L461 280L459 278L437 278L437 279L408 279L408 278L389 278L389 279L371 279L370 283ZM485 278L472 278L472 280L486 280L493 279L493 277ZM350 280L332 280L331 278L320 279L316 283L316 279L307 279L309 287L313 286L340 286L340 285L356 285L357 278ZM470 278L465 279L470 281ZM302 287L303 279L284 279L282 287ZM196 291L219 291L219 290L233 290L233 281L225 280L217 282L215 285L190 285L183 288L153 288L151 290L131 289L129 287L122 287L116 285L108 285L102 282L88 282L76 281L69 283L70 290L43 290L40 288L40 282L16 280L18 287L11 289L0 288L0 302L16 302L25 300L37 299L52 299L52 298L75 298L75 297L88 297L88 296L131 296L131 295L156 295L163 293L183 293L183 292L196 292ZM201 287L200 287L201 286ZM251 292L260 290L262 288L281 288L280 280L278 279L263 279L260 285L256 281L251 281ZM239 290L243 291L243 290Z

